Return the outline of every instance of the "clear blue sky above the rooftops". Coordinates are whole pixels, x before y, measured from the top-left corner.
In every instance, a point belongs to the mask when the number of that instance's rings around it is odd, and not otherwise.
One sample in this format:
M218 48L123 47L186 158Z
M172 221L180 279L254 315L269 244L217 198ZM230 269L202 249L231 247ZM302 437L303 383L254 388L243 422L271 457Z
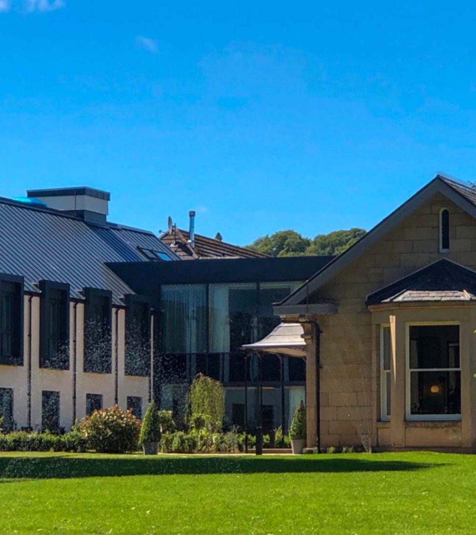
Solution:
M245 244L370 228L476 178L470 2L0 0L0 195Z

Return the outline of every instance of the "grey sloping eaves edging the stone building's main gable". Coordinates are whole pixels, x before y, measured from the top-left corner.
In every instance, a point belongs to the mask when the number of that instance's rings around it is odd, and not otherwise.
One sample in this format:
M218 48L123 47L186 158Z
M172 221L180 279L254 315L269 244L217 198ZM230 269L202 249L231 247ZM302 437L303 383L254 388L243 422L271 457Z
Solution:
M421 188L399 208L390 213L389 216L372 228L372 230L367 232L367 234L362 236L362 238L354 243L352 247L344 251L344 253L341 255L337 256L333 261L324 266L313 277L307 280L302 286L297 288L296 291L286 297L286 299L282 301L278 307L275 307L274 310L277 311L278 309L290 305L301 305L301 303L307 299L311 293L315 292L316 289L333 279L337 273L345 268L345 266L349 265L350 262L364 253L368 247L380 240L393 227L401 223L415 209L417 209L435 193L441 193L445 195L450 201L453 201L460 208L476 218L476 206L468 201L455 188L452 188L447 182L445 182L442 175L436 175L431 182Z

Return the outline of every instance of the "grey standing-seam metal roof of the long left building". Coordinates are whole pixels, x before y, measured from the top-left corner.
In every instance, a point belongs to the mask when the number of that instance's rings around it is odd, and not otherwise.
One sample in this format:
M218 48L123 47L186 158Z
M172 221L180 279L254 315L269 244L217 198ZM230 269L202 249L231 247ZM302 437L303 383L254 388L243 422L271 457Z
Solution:
M97 225L59 210L0 197L0 272L24 276L25 291L41 279L67 282L71 297L84 287L108 289L113 301L134 293L105 262L149 262L138 247L177 259L153 233L114 223Z

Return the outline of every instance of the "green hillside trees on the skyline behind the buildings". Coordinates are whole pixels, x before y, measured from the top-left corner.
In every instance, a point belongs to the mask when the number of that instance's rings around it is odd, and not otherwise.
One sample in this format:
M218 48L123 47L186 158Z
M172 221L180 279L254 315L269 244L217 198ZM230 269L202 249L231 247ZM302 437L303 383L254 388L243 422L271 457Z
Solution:
M296 231L278 231L258 238L247 248L269 256L339 255L365 233L363 228L351 228L318 234L311 240Z

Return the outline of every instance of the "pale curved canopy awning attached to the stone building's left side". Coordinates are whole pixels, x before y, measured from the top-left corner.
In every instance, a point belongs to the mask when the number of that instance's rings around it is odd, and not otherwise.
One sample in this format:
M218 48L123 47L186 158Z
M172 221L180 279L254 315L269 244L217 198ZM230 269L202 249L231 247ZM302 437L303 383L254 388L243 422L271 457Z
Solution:
M241 349L305 358L303 326L300 323L280 323L265 338L259 342L247 343Z

